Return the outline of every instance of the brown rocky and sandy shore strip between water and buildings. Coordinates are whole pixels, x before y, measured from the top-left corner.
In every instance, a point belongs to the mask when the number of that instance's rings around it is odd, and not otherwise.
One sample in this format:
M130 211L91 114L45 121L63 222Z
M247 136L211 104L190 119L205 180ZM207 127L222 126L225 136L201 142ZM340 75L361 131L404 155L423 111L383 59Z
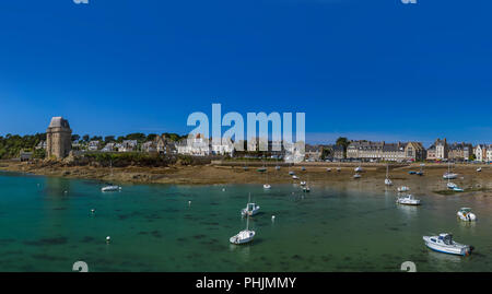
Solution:
M302 166L306 170L302 170ZM419 164L391 165L390 178L394 186L386 187L386 164L368 163L363 164L364 172L362 178L353 179L354 167L358 164L342 164L341 172L337 172L339 165L335 163L305 163L304 165L286 167L280 170L269 166L269 184L295 184L289 176L289 170L302 179L307 180L311 187L330 186L340 189L366 190L384 192L395 190L398 186L409 186L412 193L435 195L445 197L447 195L459 195L462 197L492 197L492 167L482 165L482 172L476 172L478 165L457 164L454 172L458 178L454 179L465 192L449 192L446 190L446 180L442 175L447 172L446 164L426 164L424 176L409 175L409 170L419 170ZM331 172L327 172L330 167ZM101 181L128 183L128 184L173 184L173 185L226 185L226 184L258 184L262 185L267 180L265 173L257 172L257 167L250 166L245 170L243 166L226 165L195 165L168 167L114 167L113 175L109 167L95 166L67 166L60 163L25 163L25 162L0 162L0 170L30 173L34 175L94 179ZM298 183L298 181L297 181Z

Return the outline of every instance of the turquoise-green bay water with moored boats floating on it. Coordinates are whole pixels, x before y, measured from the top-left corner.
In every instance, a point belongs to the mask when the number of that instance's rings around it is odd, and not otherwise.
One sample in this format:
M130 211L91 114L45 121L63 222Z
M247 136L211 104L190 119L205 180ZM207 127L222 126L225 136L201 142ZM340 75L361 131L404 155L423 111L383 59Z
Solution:
M492 270L489 198L419 196L423 205L412 208L396 205L393 192L317 185L305 196L292 185L102 186L0 173L0 271L71 271L78 260L90 271L399 271L407 260L418 271ZM261 207L250 220L257 236L231 245L249 192ZM479 222L457 221L460 207ZM422 235L441 232L476 251L426 249Z

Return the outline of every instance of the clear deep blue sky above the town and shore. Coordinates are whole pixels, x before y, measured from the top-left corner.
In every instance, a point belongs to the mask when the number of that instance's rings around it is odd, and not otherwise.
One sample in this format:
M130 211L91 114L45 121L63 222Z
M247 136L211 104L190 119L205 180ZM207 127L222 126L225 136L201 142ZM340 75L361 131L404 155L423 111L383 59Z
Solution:
M0 1L0 134L305 111L307 140L492 143L492 1Z

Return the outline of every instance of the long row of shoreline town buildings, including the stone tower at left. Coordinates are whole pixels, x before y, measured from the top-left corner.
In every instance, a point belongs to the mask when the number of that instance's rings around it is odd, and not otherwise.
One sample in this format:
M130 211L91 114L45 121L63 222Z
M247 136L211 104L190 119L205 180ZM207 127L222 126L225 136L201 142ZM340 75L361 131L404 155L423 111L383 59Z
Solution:
M232 140L222 143L213 143L202 134L190 136L178 142L167 140L165 136L156 136L154 140L139 143L137 140L125 140L122 142L108 142L103 145L102 141L81 142L71 141L70 125L61 117L54 117L47 129L46 142L39 142L36 149L45 149L48 157L65 157L71 149L90 152L148 152L160 154L185 154L194 156L230 155L234 156L236 149ZM342 145L308 145L304 150L296 144L284 142L261 142L258 138L244 142L242 146L246 150L258 151L261 143L267 143L269 155L277 158L300 161L319 161L321 158L332 160L364 160L364 161L479 161L492 162L492 144L452 143L446 139L437 139L434 144L425 149L421 142L397 142L385 141L373 142L367 140L353 140L347 146ZM261 146L265 148L265 146ZM238 156L244 156L247 151L239 151ZM291 156L291 157L290 157Z

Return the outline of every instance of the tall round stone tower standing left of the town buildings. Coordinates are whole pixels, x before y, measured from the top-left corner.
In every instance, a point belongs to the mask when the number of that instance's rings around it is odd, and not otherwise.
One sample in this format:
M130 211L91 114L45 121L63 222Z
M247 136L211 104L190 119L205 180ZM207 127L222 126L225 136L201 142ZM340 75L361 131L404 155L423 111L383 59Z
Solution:
M47 157L63 158L69 155L72 149L72 130L67 119L62 117L51 118L46 130L46 152Z

